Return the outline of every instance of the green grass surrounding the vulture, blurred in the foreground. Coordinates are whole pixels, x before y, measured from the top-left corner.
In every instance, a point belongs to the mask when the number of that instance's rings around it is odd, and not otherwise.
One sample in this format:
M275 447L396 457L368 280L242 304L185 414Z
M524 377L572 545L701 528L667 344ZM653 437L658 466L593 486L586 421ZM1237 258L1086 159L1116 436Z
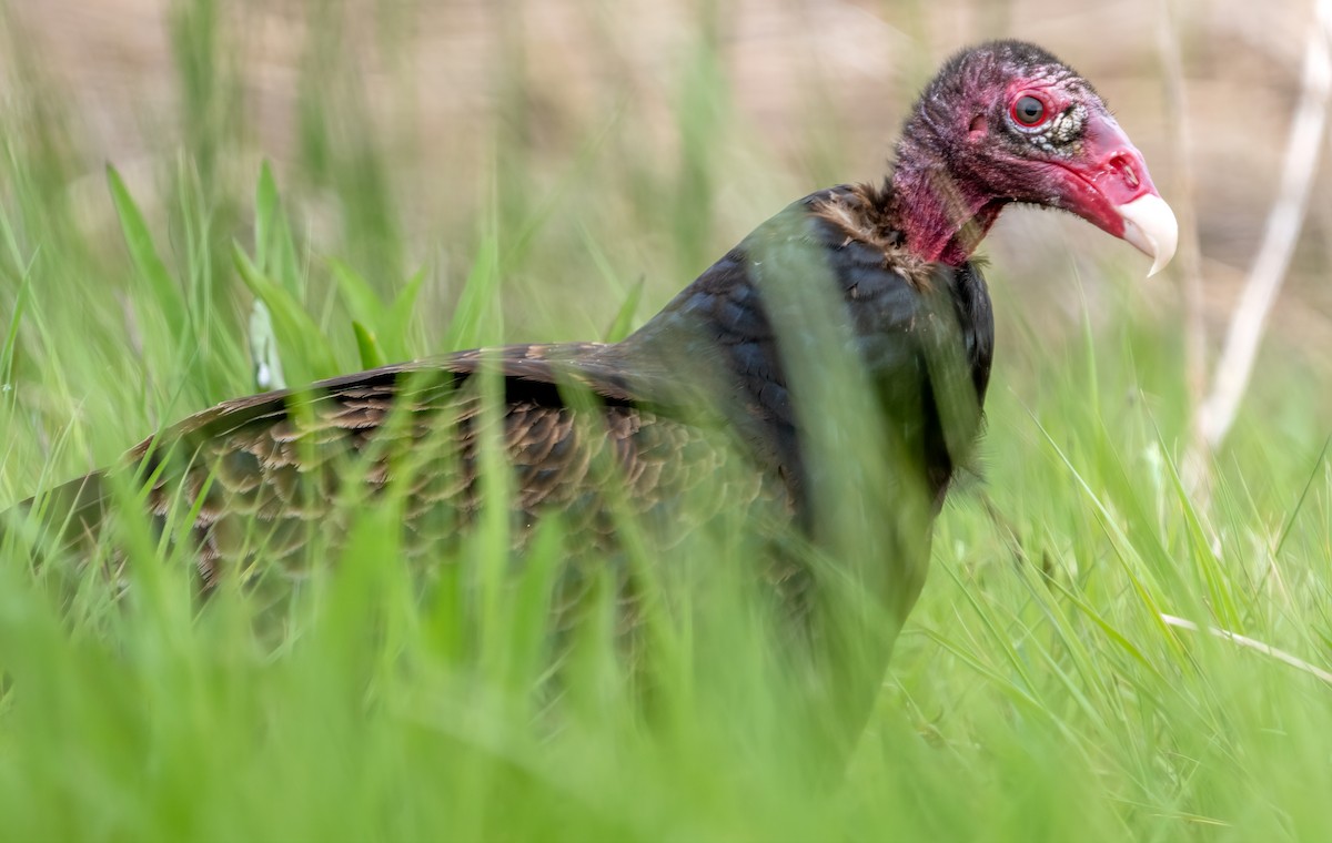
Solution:
M377 37L393 25L385 13ZM234 33L213 4L180 7L188 131L152 178L112 169L93 193L72 188L101 178L77 115L36 57L11 51L25 81L0 115L0 503L254 392L254 297L292 384L478 344L614 337L821 186L771 174L726 108L715 21L702 20L675 79L678 158L635 145L623 104L581 127L569 154L538 149L519 72L531 59L514 55L481 128L492 164L440 174L456 201L421 232L390 129L362 119L352 60L330 59L349 33L318 32L298 150L245 169L232 162L246 142ZM836 169L835 149L810 140L821 168ZM719 198L735 185L754 192ZM321 240L310 220L328 204L340 228ZM119 607L96 577L55 599L9 547L0 834L1329 839L1332 686L1160 618L1332 665L1320 373L1271 356L1199 509L1176 473L1176 320L1148 313L1136 268L1084 280L1100 312L1068 341L1023 316L1020 280L990 272L1002 336L983 479L939 519L930 582L834 784L811 784L822 724L783 719L762 630L726 589L662 625L671 657L650 728L595 622L553 722L525 687L545 651L543 578L566 550L558 527L513 582L494 550L503 523L482 530L462 554L480 585L422 601L384 543L386 509L293 602L276 650L256 637L252 595L224 590L200 611L186 562L147 533ZM1074 277L1058 260L1047 270Z

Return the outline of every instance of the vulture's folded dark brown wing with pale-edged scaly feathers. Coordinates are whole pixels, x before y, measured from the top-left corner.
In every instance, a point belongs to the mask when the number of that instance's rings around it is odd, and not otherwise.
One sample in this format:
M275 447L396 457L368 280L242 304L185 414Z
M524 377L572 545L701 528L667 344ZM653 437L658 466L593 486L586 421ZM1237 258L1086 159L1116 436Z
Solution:
M312 542L336 547L364 502L401 507L408 555L449 558L481 507L488 441L511 466L515 545L551 513L614 550L625 517L670 542L723 506L789 510L774 471L738 454L722 425L650 401L651 381L630 384L610 348L464 352L228 401L140 443L128 465L147 478L157 529L197 550L204 589L226 571L300 575ZM503 390L493 414L488 366ZM65 537L103 529L108 479L53 493L47 509L73 513Z

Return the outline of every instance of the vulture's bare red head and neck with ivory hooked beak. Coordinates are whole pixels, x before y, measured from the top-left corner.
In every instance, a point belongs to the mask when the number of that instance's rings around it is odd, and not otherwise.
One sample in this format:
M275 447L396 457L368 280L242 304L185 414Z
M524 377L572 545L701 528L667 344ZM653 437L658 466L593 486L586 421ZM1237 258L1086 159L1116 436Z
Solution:
M892 177L907 245L967 260L1004 205L1059 208L1147 253L1175 254L1175 214L1086 79L1020 41L952 57L920 95Z

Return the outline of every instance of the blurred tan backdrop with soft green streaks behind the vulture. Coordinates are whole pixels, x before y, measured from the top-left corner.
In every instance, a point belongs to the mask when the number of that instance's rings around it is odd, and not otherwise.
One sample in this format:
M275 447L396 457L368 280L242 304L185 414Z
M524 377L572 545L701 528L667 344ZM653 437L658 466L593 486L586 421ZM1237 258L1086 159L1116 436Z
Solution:
M11 161L79 248L105 242L89 266L124 262L109 162L169 232L164 252L188 248L173 214L197 189L233 277L225 246L249 237L268 160L313 253L385 294L426 270L414 348L433 353L478 232L497 233L503 340L601 338L639 281L637 321L789 201L878 178L950 53L1028 39L1098 87L1196 222L1211 358L1276 194L1313 11L1253 16L1245 0L20 0L0 91ZM1332 192L1308 177L1321 189L1265 348L1317 368ZM1020 317L1058 348L1126 294L1184 324L1187 260L1140 284L1146 260L1071 217L1011 210L983 252L1002 334ZM71 306L115 305L107 276L107 301Z

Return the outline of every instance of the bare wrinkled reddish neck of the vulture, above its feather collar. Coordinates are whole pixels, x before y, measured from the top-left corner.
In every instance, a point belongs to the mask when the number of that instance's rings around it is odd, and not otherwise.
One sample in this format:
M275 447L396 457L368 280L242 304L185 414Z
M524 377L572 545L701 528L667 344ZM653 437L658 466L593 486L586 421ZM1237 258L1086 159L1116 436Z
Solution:
M907 250L954 268L967 262L1007 204L954 177L942 164L907 150L891 181Z

